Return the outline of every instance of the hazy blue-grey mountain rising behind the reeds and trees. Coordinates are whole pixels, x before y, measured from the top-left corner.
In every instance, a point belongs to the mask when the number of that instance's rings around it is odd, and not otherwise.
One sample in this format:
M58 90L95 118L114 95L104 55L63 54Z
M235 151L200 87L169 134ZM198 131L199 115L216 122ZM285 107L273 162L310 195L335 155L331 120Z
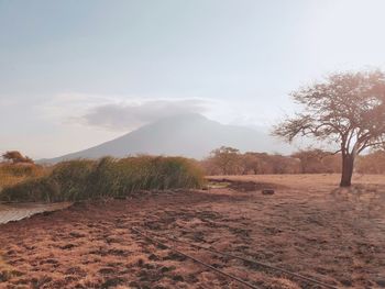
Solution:
M134 154L173 155L204 158L222 145L240 151L288 152L288 146L256 130L226 125L197 113L175 115L144 125L100 145L42 159L40 163L58 163L76 158L102 156L124 157Z

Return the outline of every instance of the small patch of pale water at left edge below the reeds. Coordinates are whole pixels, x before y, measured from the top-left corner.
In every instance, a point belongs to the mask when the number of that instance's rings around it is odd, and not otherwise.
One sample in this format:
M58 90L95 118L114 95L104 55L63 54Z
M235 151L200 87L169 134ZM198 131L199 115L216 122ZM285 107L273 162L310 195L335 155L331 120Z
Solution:
M58 203L0 203L0 224L20 221L34 214L68 208L70 202Z

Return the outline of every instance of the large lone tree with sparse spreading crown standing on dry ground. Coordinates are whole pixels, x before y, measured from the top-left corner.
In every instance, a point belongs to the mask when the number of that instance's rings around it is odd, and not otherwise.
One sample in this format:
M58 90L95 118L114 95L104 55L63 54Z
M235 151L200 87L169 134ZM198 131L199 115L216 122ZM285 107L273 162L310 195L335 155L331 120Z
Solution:
M385 144L385 75L381 70L339 73L292 93L304 107L274 134L336 142L342 156L341 187L351 186L355 157Z

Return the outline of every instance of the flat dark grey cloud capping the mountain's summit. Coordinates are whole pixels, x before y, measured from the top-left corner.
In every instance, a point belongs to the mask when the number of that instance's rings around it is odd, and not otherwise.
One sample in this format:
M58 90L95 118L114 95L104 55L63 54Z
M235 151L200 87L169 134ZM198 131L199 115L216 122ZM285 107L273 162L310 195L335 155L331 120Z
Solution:
M133 130L163 118L204 113L207 110L208 101L202 99L158 99L97 105L82 115L81 120L87 125L123 131Z

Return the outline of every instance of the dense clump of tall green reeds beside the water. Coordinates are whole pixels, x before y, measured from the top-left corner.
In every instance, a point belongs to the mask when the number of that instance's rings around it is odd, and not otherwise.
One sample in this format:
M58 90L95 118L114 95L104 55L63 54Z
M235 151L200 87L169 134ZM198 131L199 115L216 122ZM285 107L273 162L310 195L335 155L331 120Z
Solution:
M47 176L7 187L3 201L77 201L125 197L140 190L201 188L204 175L183 157L140 156L64 162Z

